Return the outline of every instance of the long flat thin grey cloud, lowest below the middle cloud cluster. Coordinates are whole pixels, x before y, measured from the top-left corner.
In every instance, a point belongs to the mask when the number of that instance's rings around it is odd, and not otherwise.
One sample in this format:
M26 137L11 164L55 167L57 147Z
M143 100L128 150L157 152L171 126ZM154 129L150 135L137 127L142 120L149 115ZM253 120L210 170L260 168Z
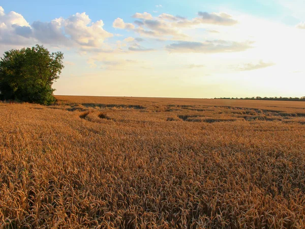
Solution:
M218 53L218 52L240 52L251 48L252 42L229 42L229 41L205 41L190 42L181 41L166 46L169 52L202 52L202 53Z

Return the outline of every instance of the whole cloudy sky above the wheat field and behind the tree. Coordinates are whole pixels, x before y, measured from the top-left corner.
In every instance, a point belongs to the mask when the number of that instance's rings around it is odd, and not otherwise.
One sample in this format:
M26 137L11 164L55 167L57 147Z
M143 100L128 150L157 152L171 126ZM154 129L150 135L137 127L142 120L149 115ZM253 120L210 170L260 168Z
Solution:
M3 1L0 55L64 53L56 95L305 96L304 0Z

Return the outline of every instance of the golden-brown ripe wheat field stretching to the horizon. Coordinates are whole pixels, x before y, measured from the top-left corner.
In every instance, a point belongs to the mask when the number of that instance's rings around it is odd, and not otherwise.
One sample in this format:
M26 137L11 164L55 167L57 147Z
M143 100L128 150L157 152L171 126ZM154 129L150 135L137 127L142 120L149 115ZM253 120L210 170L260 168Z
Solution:
M0 228L304 228L305 102L0 103Z

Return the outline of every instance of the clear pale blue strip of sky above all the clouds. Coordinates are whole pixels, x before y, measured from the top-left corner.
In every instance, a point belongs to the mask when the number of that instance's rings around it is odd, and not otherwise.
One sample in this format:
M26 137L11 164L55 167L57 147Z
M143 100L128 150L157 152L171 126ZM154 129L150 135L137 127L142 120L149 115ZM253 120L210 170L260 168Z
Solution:
M166 12L185 16L194 16L197 11L220 11L223 8L249 13L252 15L282 20L293 17L293 12L276 1L232 0L232 1L202 1L202 0L171 0L171 1L5 1L2 7L6 11L16 11L28 22L36 20L50 21L57 17L68 17L76 12L86 12L92 20L103 18L105 26L111 28L116 17L130 17L130 12ZM162 8L156 8L162 5Z

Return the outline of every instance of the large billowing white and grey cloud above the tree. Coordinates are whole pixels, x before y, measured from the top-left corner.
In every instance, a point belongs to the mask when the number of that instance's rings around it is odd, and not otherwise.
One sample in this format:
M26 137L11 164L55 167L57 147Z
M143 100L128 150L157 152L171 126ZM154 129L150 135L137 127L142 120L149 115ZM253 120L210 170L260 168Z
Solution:
M0 43L2 44L55 44L65 46L101 46L112 37L103 28L102 20L92 22L86 13L76 13L67 19L56 18L50 22L34 21L32 25L21 14L0 7Z

